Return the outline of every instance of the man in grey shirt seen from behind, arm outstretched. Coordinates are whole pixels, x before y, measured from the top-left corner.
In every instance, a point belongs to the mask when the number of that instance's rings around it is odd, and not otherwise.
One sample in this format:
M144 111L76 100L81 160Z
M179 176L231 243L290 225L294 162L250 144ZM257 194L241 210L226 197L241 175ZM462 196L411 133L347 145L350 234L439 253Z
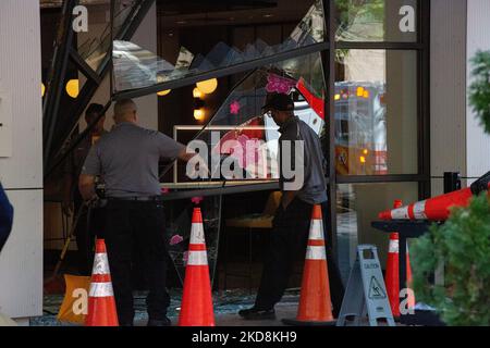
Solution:
M105 239L121 325L133 325L131 284L133 247L142 254L148 279L148 325L170 325L166 289L167 243L164 214L159 199L160 159L188 161L195 153L162 133L137 125L136 104L131 99L114 105L115 126L91 147L78 186L86 200L94 199L94 181L103 176L106 198Z

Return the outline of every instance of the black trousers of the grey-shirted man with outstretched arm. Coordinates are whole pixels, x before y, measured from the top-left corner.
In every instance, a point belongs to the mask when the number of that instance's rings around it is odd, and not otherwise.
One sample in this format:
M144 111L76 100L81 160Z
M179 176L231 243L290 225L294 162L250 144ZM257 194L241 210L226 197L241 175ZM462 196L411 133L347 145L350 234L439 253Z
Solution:
M137 249L148 284L148 316L163 320L170 297L166 289L167 244L164 213L155 201L108 201L106 208L106 245L120 324L134 319L132 252Z

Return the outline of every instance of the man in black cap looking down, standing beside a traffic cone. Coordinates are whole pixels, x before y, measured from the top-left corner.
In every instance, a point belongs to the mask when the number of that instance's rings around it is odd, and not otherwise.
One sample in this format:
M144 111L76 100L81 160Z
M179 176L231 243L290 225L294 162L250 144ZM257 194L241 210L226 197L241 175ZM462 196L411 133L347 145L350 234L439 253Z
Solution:
M274 304L287 287L296 256L304 254L309 235L311 211L321 204L326 212L326 159L318 135L294 115L290 96L271 94L262 108L279 125L279 165L282 201L272 222L270 246L264 263L262 277L250 309L238 314L245 320L274 319ZM323 219L327 214L323 213ZM327 221L324 226L329 226ZM333 311L339 311L343 297L340 272L332 258L327 238L327 260L331 284Z

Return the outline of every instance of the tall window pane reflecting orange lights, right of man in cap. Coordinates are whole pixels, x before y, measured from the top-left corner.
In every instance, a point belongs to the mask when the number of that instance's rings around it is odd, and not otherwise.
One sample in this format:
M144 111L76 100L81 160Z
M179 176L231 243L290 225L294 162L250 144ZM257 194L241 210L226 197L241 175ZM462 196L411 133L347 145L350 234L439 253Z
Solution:
M338 50L336 64L336 173L416 174L417 53Z

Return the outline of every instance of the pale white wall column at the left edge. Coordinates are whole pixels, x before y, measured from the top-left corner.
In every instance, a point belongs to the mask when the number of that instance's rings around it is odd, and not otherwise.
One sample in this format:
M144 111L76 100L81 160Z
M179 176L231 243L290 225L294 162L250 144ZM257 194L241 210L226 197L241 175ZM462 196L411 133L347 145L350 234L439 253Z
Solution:
M14 225L0 253L0 312L42 315L42 140L39 0L0 1L0 94L10 96L12 154L0 179Z

